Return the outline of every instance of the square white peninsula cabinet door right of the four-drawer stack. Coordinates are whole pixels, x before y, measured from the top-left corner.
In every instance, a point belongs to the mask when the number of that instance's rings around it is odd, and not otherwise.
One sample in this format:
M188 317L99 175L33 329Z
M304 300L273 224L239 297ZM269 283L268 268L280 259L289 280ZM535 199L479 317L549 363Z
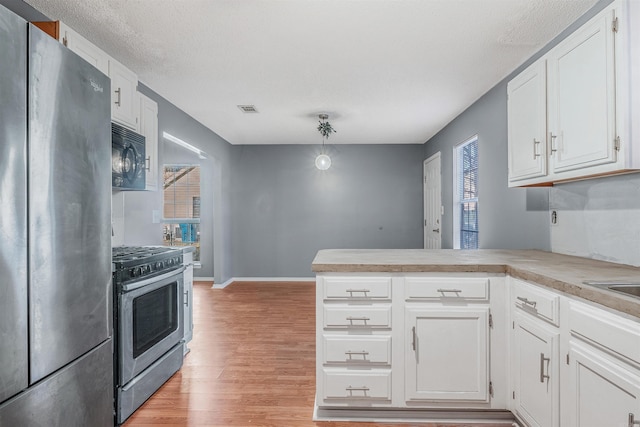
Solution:
M489 309L406 311L407 401L489 399Z

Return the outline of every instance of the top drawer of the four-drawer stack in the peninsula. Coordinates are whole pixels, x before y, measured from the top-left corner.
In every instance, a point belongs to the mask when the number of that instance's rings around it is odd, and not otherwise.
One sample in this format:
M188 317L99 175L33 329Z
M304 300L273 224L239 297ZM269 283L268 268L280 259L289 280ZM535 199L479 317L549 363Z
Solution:
M391 299L390 277L325 277L323 285L328 300Z

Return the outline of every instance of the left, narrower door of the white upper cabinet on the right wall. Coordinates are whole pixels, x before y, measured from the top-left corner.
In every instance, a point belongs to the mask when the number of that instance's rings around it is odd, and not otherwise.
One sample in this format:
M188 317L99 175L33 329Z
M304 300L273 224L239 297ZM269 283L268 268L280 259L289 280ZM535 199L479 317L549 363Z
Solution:
M546 62L541 59L507 85L509 181L547 174Z

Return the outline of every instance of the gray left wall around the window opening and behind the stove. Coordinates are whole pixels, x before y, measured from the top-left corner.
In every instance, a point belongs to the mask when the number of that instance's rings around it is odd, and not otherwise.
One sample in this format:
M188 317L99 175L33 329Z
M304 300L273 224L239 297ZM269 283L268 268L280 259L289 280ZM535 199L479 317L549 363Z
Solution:
M231 146L217 134L143 84L138 90L158 103L158 169L164 164L201 166L200 262L196 277L214 277L217 283L232 276L231 258ZM199 159L189 150L165 141L168 132L208 154ZM159 182L159 188L162 181ZM152 211L162 212L162 191L125 192L125 241L127 245L162 244L162 226L153 224Z

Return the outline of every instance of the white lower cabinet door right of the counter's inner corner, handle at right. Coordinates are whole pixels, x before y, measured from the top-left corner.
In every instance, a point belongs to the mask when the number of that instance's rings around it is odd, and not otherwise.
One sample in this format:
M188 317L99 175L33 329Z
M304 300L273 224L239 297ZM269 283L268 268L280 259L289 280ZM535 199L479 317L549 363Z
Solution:
M512 378L515 411L531 427L559 425L558 336L555 328L515 313Z

